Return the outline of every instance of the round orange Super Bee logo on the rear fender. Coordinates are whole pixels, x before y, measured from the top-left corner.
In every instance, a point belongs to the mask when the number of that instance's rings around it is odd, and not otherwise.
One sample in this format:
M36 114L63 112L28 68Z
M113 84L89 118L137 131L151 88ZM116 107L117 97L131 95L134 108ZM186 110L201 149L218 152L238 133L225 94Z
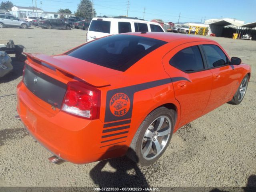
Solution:
M130 109L130 99L124 93L116 93L110 99L109 108L114 116L124 116Z

